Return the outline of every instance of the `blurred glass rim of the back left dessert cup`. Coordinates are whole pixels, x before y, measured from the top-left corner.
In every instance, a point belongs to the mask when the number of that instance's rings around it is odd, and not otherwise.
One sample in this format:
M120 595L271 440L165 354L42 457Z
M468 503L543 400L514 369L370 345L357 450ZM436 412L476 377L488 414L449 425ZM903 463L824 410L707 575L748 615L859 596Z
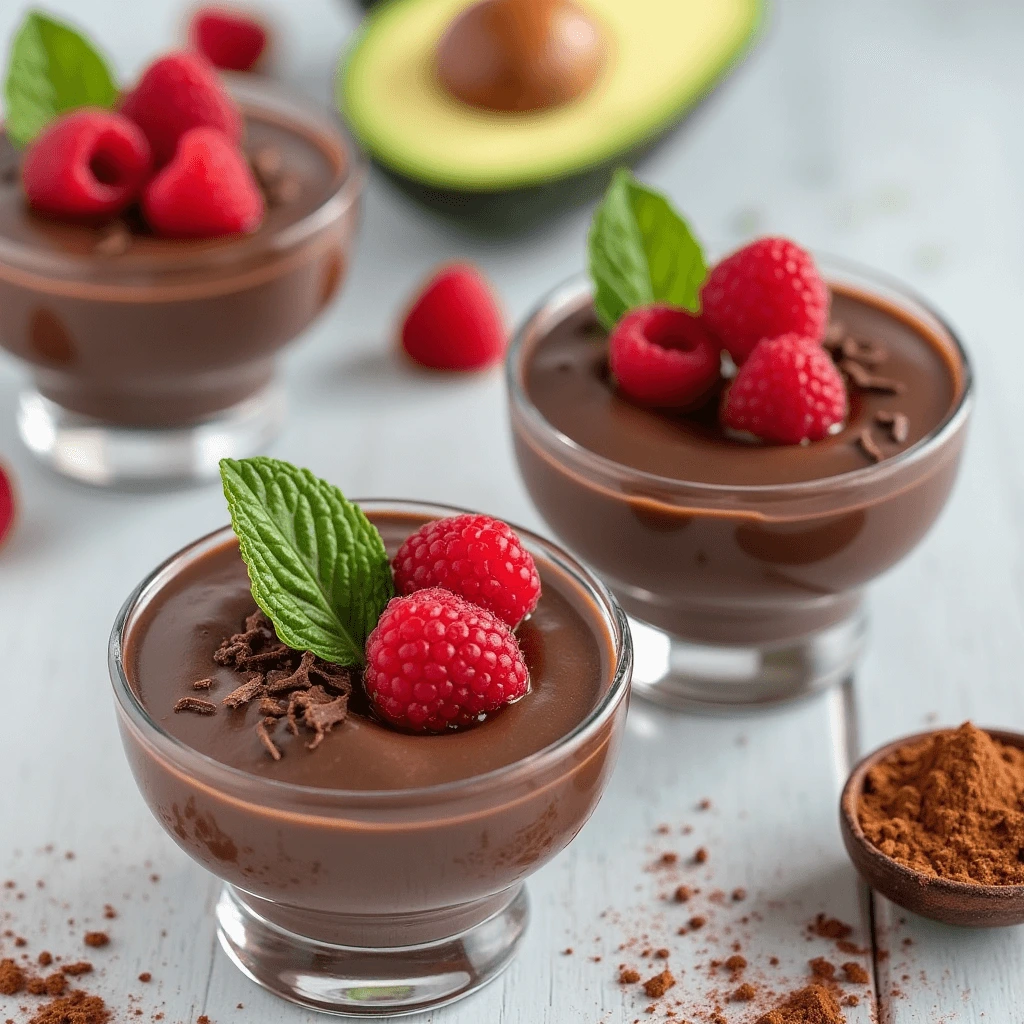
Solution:
M173 253L155 253L147 255L143 262L128 268L121 267L113 260L97 260L91 253L41 253L34 246L0 239L0 268L8 266L17 273L32 275L40 281L58 281L87 293L100 294L110 288L131 290L135 286L126 279L139 271L191 274L203 270L229 271L238 267L241 272L250 260L265 253L286 253L341 217L362 191L368 163L337 114L327 104L318 103L293 87L270 79L241 72L220 74L231 95L241 103L254 106L263 104L271 114L274 111L290 113L304 127L318 126L333 134L332 141L344 153L345 164L332 180L331 191L323 202L272 234L232 238L228 244L195 253L194 258L185 263ZM147 287L159 289L161 285L157 280Z

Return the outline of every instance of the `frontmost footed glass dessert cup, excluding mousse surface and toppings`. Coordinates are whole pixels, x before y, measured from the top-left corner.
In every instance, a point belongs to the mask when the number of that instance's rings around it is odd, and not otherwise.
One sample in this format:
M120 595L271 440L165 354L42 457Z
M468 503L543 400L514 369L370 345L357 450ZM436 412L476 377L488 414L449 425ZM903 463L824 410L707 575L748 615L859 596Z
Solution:
M371 518L396 511L426 521L461 511L359 505ZM384 1017L475 991L509 965L522 940L523 881L597 805L626 722L632 647L625 614L570 556L527 531L519 536L542 577L592 607L609 651L608 679L557 742L455 782L389 791L298 785L216 761L155 720L126 675L126 639L162 588L229 542L229 529L161 565L118 615L110 671L135 779L172 839L223 880L216 914L225 952L276 994L316 1010Z

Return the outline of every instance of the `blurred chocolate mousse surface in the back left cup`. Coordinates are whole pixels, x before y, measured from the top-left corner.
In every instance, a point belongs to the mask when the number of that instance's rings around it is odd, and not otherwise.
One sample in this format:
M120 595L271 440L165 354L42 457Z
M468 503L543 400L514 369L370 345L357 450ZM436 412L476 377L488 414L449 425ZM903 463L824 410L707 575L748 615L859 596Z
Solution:
M346 173L347 159L344 150L327 136L316 135L270 111L251 105L243 110L245 153L256 162L257 171L262 157L265 170L271 172L268 179L274 179L266 188L263 222L254 236L241 237L247 239L272 234L312 213L337 190ZM188 262L197 252L216 251L240 242L239 236L162 239L130 218L126 223L131 229L130 244L123 251L100 249L104 258L130 263L153 257L163 261L178 255ZM18 153L0 133L0 247L6 242L43 255L92 257L109 233L109 224L75 224L33 213L19 184Z

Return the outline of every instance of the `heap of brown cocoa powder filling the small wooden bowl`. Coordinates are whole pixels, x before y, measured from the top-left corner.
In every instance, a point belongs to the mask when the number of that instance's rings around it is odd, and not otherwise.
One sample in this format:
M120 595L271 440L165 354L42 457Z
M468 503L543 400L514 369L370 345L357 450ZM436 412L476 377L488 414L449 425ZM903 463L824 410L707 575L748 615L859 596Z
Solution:
M874 765L857 816L870 843L913 870L1024 884L1024 751L970 722Z

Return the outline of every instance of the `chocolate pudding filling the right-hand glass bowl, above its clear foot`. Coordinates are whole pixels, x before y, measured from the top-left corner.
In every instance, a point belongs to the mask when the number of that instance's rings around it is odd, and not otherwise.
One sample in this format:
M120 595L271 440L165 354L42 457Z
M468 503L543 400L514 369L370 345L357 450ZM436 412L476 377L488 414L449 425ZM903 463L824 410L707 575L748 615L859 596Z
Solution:
M827 629L944 505L969 407L957 342L885 283L838 270L830 288L826 343L842 367L862 357L866 386L850 381L842 429L799 445L728 435L714 400L671 414L624 399L584 287L523 329L509 373L526 486L642 623L730 646Z

